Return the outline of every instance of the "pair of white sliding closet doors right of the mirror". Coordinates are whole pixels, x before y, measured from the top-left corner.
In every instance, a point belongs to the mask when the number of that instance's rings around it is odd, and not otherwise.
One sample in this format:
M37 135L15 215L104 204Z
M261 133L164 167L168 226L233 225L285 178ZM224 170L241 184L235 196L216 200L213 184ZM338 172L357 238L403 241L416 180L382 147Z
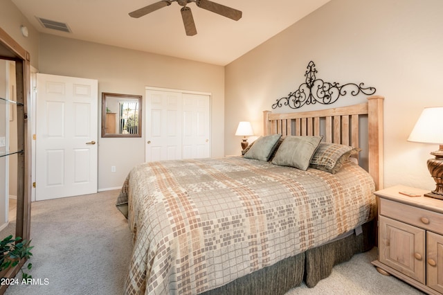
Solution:
M210 157L210 96L146 90L145 161Z

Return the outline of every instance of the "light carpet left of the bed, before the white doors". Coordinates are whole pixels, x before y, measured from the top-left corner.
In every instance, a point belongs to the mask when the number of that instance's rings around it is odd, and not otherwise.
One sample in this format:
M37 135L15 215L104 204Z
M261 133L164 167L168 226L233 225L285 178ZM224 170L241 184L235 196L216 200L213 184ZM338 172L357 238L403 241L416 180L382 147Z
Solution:
M5 294L123 294L132 238L117 195L33 202L29 274L48 285L12 285Z

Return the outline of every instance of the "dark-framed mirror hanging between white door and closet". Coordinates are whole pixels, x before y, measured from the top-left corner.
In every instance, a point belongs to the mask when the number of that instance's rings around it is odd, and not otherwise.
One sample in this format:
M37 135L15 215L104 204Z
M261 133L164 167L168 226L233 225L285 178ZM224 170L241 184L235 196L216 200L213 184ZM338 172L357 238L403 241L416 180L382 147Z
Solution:
M141 98L102 93L102 137L141 137Z

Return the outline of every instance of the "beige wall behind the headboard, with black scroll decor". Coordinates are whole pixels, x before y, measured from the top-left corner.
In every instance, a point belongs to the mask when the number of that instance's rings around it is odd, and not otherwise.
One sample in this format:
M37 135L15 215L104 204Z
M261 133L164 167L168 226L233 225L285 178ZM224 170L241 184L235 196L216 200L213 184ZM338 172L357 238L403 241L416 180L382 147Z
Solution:
M239 120L262 134L262 111L298 89L313 60L318 78L365 82L386 97L385 186L435 188L426 159L438 146L406 139L424 107L443 105L442 12L441 0L332 0L235 60L226 66L226 154L239 154Z

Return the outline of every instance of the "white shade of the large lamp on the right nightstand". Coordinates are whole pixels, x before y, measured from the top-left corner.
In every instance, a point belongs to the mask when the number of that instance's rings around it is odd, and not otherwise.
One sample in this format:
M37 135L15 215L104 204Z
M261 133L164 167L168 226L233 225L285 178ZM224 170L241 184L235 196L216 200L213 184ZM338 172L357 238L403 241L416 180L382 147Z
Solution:
M426 107L410 132L408 141L443 144L443 107Z

